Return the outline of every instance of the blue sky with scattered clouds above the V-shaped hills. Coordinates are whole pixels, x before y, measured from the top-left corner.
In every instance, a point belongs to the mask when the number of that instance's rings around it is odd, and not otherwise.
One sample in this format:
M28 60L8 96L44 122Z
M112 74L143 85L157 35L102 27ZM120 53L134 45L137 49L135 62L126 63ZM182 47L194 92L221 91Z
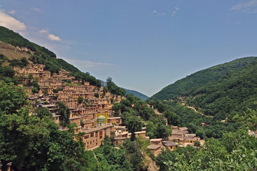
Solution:
M0 25L147 96L196 71L257 56L257 0L0 0Z

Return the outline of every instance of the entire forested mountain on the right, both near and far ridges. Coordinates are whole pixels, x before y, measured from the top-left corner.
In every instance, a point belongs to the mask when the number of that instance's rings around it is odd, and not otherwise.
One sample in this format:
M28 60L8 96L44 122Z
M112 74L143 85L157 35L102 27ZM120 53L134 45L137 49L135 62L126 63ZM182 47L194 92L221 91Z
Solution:
M150 99L182 101L205 115L231 118L247 107L255 109L256 95L257 57L246 57L186 76Z

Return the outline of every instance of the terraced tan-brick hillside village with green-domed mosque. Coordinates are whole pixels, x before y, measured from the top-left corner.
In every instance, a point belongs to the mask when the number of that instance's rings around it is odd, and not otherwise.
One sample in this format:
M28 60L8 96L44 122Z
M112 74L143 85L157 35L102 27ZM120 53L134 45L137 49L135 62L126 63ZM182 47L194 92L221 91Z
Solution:
M75 134L85 132L83 141L87 150L94 149L101 144L101 140L105 135L110 136L115 132L115 144L122 144L125 139L131 136L125 126L121 126L121 117L115 117L112 106L119 103L122 99L126 99L123 95L112 95L110 91L105 92L104 87L90 85L89 82L75 80L70 72L61 70L54 73L44 70L43 64L29 64L26 68L12 66L15 70L19 83L18 86L24 87L31 101L33 108L43 107L49 109L52 113L52 119L55 123L60 123L60 115L58 115L58 107L56 101L61 101L70 109L70 123L76 123ZM28 79L29 78L29 79ZM28 82L37 81L40 89L33 90L32 86L28 86ZM83 101L79 103L79 98L83 97ZM131 105L133 107L133 105ZM148 105L148 107L153 108ZM157 115L162 115L157 109L153 109ZM33 114L33 110L31 110ZM168 125L167 119L164 119ZM67 127L60 125L61 130L67 130ZM142 136L149 140L145 127L142 131L135 132L136 137ZM200 141L202 146L204 140L196 137L195 134L188 134L186 127L173 126L172 135L168 140L150 139L148 148L157 156L163 147L173 150L177 146L194 146L195 141ZM197 148L197 147L196 147Z

